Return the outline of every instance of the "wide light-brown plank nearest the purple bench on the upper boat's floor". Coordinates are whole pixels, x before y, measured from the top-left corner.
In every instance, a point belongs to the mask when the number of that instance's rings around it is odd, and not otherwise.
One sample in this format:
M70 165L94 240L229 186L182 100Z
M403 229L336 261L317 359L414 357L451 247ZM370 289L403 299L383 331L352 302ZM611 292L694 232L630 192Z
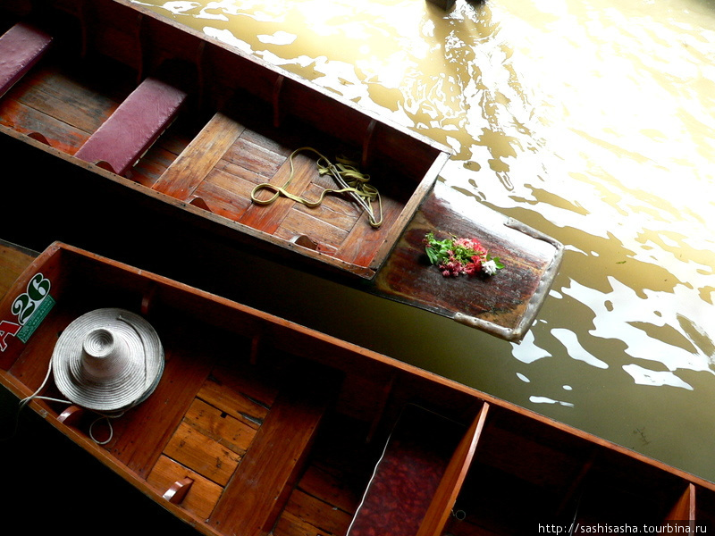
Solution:
M154 189L178 199L188 199L243 130L238 121L223 113L215 113L189 147L156 181Z

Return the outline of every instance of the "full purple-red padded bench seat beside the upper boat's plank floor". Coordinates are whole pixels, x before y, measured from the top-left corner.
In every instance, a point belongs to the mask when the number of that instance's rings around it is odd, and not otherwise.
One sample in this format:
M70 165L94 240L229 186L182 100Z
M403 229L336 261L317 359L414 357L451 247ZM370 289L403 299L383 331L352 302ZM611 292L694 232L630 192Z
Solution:
M149 77L128 96L75 156L122 175L172 123L188 97L183 89Z

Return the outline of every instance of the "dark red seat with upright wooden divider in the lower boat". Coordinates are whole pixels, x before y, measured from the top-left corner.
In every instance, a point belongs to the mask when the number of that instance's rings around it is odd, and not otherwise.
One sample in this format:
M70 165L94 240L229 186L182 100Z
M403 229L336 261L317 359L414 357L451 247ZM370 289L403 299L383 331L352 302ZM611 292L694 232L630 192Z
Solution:
M464 427L422 407L405 407L348 536L439 536L464 482L488 406Z

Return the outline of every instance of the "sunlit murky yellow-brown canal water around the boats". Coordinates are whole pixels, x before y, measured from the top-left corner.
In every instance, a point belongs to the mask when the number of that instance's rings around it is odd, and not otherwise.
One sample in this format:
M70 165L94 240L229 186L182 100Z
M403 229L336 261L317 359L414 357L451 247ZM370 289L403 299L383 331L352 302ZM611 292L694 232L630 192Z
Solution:
M266 308L715 481L715 3L141 4L446 144L464 210L566 247L521 344L279 266Z

